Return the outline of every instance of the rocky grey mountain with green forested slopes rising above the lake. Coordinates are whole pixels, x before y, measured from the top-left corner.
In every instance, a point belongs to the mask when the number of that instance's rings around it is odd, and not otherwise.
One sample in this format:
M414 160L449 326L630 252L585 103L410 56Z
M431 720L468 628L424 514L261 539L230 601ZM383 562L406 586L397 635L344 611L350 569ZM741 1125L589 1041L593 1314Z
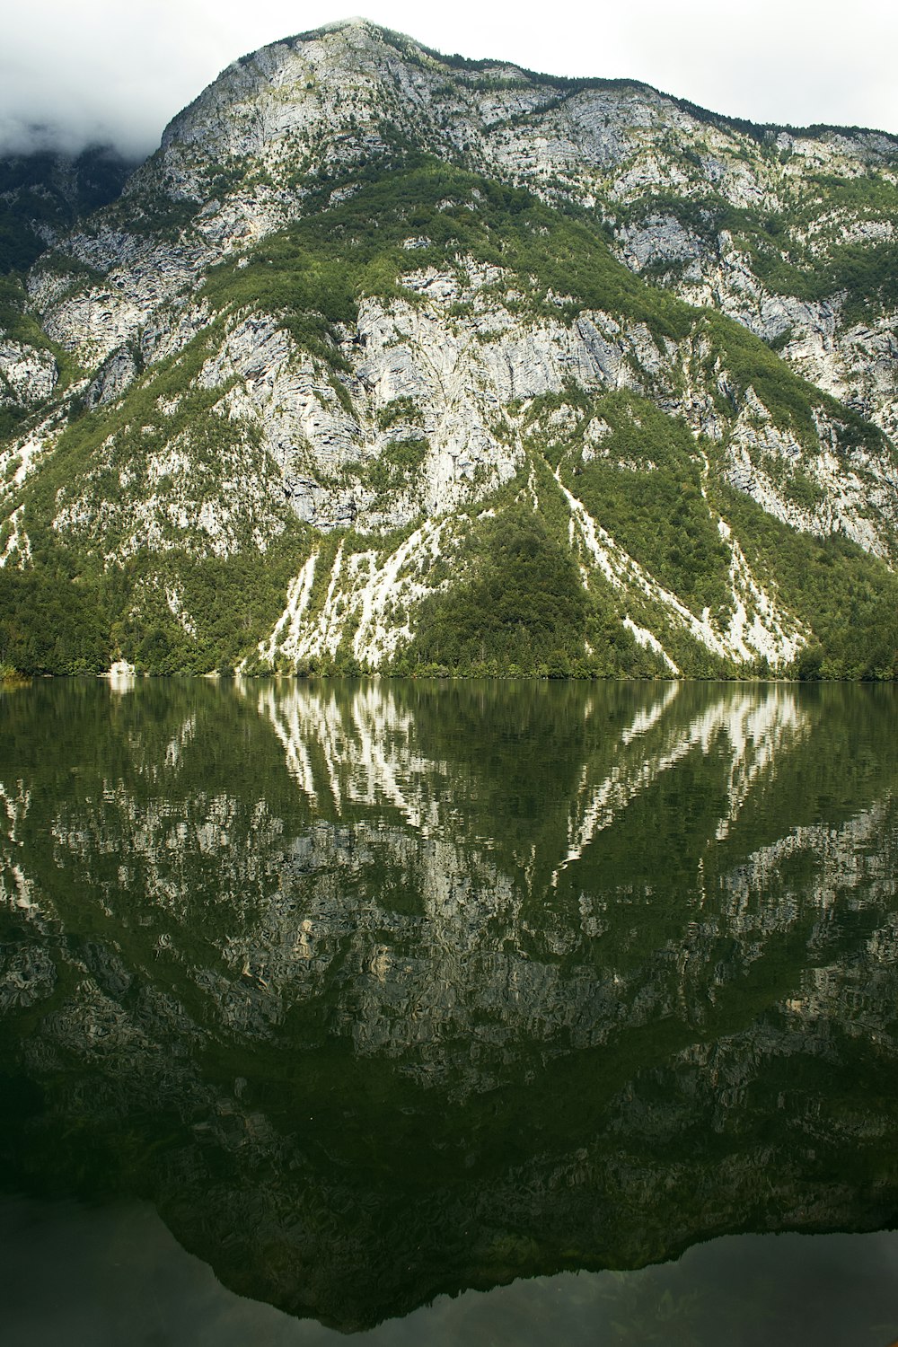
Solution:
M3 310L0 663L891 678L897 220L880 132L244 57Z

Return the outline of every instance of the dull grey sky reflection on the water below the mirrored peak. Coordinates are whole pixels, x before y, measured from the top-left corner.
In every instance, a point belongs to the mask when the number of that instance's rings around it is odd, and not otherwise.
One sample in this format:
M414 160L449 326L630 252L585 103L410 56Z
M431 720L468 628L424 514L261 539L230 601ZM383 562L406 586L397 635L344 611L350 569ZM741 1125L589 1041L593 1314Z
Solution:
M335 1347L311 1319L234 1296L144 1204L0 1199L4 1347ZM365 1347L885 1347L898 1233L735 1235L626 1274L466 1292L361 1335ZM788 1276L784 1272L788 1270ZM722 1325L726 1325L722 1332Z

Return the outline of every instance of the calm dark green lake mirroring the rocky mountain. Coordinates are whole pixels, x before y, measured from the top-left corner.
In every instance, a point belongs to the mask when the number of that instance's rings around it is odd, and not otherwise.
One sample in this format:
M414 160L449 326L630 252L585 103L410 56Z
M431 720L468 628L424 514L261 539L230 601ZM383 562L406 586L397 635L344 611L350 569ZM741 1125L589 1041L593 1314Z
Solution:
M13 1340L59 1340L55 1305L85 1343L886 1347L897 713L864 686L1 694ZM147 1268L155 1336L104 1336Z

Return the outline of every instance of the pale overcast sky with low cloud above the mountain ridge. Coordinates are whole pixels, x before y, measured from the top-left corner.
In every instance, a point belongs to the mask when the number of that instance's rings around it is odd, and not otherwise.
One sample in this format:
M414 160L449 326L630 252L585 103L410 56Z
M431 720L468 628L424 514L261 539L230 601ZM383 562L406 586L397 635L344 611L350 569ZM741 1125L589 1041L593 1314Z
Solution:
M27 0L3 19L0 151L112 141L143 156L237 57L351 13L439 51L642 79L751 121L898 133L891 0Z

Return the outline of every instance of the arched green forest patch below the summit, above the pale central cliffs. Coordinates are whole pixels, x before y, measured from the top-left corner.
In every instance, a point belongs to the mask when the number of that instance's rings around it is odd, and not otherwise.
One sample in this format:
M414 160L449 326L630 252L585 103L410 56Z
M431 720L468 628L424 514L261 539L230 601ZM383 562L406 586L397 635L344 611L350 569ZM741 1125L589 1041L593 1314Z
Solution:
M350 322L364 294L409 298L397 282L409 269L403 244L417 233L416 265L470 255L508 268L522 287L524 313L574 317L584 306L602 307L658 335L689 330L689 308L618 263L586 213L563 213L521 187L427 156L405 159L392 171L377 164L353 174L353 194L338 205L329 201L346 180L326 182L307 202L307 217L264 240L249 265L213 271L210 299Z

